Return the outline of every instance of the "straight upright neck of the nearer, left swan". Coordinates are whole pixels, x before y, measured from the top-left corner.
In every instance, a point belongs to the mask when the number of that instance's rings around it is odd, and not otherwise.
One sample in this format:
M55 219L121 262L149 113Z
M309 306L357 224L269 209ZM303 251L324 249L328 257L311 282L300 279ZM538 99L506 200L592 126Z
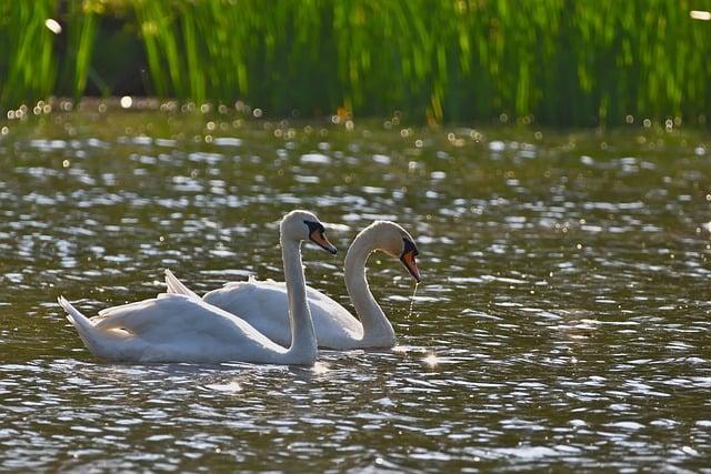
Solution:
M307 302L307 283L301 262L301 242L281 241L281 256L284 264L284 281L289 297L289 322L291 324L291 345L289 357L294 363L312 363L317 357L318 345L311 312Z

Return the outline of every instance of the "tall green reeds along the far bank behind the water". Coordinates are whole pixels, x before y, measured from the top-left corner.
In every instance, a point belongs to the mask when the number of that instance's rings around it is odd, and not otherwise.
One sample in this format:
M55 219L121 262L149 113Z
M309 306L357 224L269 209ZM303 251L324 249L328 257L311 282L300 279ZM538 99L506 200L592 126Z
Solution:
M79 97L89 84L101 94L240 99L272 117L703 122L711 22L691 10L711 10L711 0L6 0L0 108ZM140 53L106 48L116 44L102 39L109 23ZM142 84L98 72L110 61L146 67Z

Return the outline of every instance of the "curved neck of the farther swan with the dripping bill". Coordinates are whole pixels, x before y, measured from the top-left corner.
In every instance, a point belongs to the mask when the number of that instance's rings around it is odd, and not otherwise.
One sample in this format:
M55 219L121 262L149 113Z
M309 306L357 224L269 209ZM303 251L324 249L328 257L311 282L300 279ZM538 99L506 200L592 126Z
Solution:
M362 231L346 255L346 290L351 297L356 314L363 325L363 342L373 346L393 345L395 333L385 313L373 297L365 279L365 262L379 249L373 239L373 229Z

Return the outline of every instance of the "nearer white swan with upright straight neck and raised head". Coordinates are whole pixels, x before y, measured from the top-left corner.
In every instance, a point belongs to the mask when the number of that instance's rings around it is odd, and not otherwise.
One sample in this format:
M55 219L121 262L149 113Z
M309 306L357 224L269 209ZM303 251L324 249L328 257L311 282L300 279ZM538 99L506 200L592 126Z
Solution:
M247 321L191 295L160 294L109 307L93 319L81 314L63 296L59 304L89 351L108 361L313 365L318 345L301 263L301 242L307 239L336 253L314 214L287 214L280 225L280 243L293 341L288 349Z

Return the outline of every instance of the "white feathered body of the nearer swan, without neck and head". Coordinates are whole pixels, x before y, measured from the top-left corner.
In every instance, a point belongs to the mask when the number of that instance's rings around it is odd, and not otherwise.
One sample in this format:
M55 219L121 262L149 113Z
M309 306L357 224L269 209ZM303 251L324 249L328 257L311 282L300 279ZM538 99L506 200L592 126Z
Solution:
M102 311L94 323L60 299L97 356L126 362L283 362L286 350L249 323L179 294Z

